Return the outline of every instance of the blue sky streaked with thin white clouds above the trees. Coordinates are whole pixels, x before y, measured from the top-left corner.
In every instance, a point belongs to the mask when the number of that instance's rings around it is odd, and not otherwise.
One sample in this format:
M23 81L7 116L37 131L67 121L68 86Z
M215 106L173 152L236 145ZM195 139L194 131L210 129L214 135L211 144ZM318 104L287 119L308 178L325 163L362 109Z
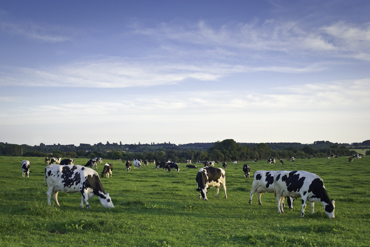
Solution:
M370 139L370 2L3 1L0 142Z

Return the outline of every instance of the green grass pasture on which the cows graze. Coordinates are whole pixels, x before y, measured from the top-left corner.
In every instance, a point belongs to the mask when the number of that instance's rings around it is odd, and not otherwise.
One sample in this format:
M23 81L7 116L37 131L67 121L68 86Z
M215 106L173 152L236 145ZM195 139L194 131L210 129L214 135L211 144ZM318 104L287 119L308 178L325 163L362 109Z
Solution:
M21 177L20 163L31 162L30 178ZM107 162L104 160L104 163ZM369 246L370 157L348 162L348 157L249 162L256 170L307 170L319 175L332 200L335 219L325 215L321 203L310 205L300 217L300 200L285 214L277 214L273 193L257 194L248 204L253 178L243 177L243 164L226 170L228 199L220 189L198 199L195 176L199 169L155 171L154 165L126 172L123 162L113 163L113 178L102 178L115 208L104 208L96 196L91 209L79 208L81 194L59 192L61 207L48 206L43 158L0 157L0 246ZM85 159L75 164L84 165ZM221 164L216 164L221 167ZM97 171L102 171L98 165ZM199 168L201 165L199 165ZM252 177L252 176L251 176Z

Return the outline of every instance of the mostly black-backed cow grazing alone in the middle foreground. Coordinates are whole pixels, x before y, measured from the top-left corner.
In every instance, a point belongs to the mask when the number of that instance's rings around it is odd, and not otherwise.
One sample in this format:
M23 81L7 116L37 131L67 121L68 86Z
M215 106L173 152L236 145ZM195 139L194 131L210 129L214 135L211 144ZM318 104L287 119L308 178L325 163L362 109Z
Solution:
M225 170L222 168L214 168L211 166L206 166L200 168L195 178L197 181L199 191L199 199L203 197L203 200L207 199L207 192L210 187L216 188L216 197L219 197L219 188L222 185L222 188L225 191L225 198L227 198L226 194L226 180L225 180Z

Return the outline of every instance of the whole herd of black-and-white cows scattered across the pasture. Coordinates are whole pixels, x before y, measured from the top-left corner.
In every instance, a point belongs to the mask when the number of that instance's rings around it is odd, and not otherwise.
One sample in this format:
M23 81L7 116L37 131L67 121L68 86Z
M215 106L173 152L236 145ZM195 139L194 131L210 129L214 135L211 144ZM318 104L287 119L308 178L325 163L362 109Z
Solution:
M354 155L349 158L349 161L353 162L354 158L361 157L361 154ZM279 159L281 164L284 164L281 159ZM290 159L294 162L294 157ZM73 159L63 159L59 157L47 157L45 163L48 166L45 168L45 181L48 184L47 198L48 204L51 205L50 198L53 195L54 201L57 206L60 206L57 200L58 191L63 191L66 193L81 193L81 204L83 207L83 202L85 202L86 208L90 208L88 200L96 195L99 198L100 203L105 208L114 208L111 197L108 193L105 193L104 188L100 182L100 177L112 178L112 163L106 163L103 166L103 171L98 173L94 170L97 169L97 162L102 162L101 158L90 159L84 166L74 165ZM275 159L269 159L270 164L275 164ZM50 164L49 164L50 163ZM125 162L126 171L130 171L132 163L134 164L134 169L138 167L141 169L141 160L127 160ZM144 160L144 165L148 165L148 160ZM172 169L180 171L179 166L176 162L164 162L150 160L150 164L154 163L156 171L159 168L163 170L170 171ZM187 168L198 168L195 165L190 165L191 160L187 160ZM90 168L88 167L90 166ZM197 182L197 191L199 191L199 199L208 200L207 192L209 188L215 187L216 196L219 196L219 188L225 192L225 198L227 198L226 193L226 168L227 163L222 164L223 168L214 167L214 162L205 161L204 167L200 168L195 181ZM30 174L30 162L24 160L21 163L22 176L27 178ZM250 178L250 166L245 164L243 166L244 178ZM301 197L301 217L304 217L304 209L306 209L306 203L309 202L311 205L311 213L314 214L314 203L321 202L324 207L325 214L329 218L334 218L335 201L331 201L327 190L323 184L322 179L308 171L303 170L257 170L253 174L252 188L250 190L249 204L252 204L252 197L254 193L257 192L258 204L262 205L261 195L263 193L274 193L276 196L277 211L279 214L284 213L284 199L288 197L288 206L293 208L293 200Z

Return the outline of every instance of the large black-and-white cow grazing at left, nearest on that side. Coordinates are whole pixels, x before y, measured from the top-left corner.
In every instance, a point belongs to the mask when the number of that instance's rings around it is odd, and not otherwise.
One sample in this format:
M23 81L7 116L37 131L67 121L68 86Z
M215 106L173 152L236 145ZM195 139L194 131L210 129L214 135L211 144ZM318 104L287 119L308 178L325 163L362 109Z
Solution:
M104 208L114 208L109 193L105 193L101 185L98 172L89 167L81 165L55 165L51 164L45 167L45 181L48 183L48 204L51 205L50 197L53 195L56 206L58 203L58 191L66 193L81 193L80 208L83 208L85 201L86 208L90 209L88 200L94 195Z

